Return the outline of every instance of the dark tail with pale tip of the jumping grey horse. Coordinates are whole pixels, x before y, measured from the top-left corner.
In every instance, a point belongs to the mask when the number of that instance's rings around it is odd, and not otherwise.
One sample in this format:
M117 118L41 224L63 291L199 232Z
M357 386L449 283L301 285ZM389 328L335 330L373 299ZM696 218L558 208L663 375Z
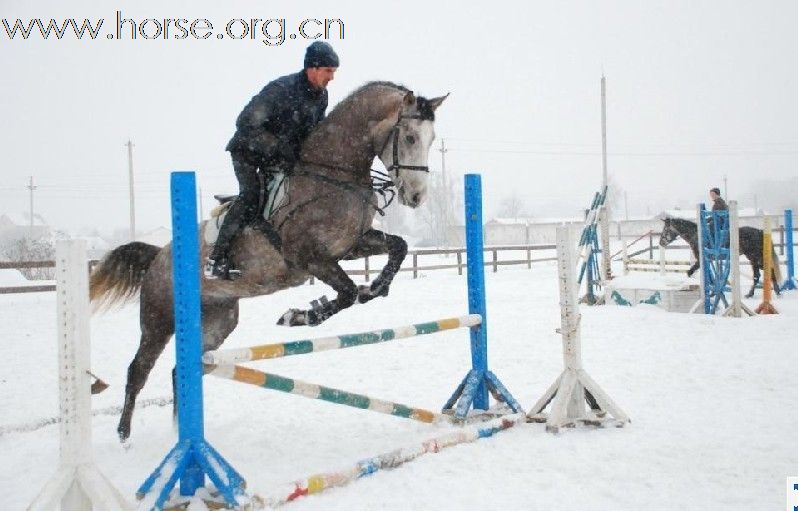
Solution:
M161 247L134 241L107 253L91 273L90 300L110 307L133 298L160 251Z

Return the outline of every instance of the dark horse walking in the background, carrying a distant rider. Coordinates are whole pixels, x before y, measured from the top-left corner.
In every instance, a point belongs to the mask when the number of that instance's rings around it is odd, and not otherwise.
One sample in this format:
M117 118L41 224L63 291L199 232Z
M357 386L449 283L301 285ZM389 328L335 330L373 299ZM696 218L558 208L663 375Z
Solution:
M687 270L687 276L692 276L700 265L698 260L698 225L693 221L683 218L666 217L663 221L665 225L662 228L662 235L659 238L660 246L665 247L681 236L682 239L690 245L690 250L693 251L693 256L695 256L695 264ZM748 259L748 262L751 263L751 268L754 270L754 283L751 285L751 290L745 295L746 298L754 296L754 289L759 283L760 271L764 267L762 259L763 239L764 237L761 229L755 227L740 227L740 254ZM773 271L771 275L773 279L773 289L776 291L776 294L779 294L779 282L781 282L779 256L772 247L770 253L773 255Z

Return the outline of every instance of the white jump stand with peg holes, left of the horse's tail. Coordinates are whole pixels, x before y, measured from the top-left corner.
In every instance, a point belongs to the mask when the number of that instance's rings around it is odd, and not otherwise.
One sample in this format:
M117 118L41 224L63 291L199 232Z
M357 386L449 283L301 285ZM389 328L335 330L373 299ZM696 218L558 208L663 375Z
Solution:
M60 466L28 511L126 511L132 506L94 464L91 446L89 272L86 242L56 243Z

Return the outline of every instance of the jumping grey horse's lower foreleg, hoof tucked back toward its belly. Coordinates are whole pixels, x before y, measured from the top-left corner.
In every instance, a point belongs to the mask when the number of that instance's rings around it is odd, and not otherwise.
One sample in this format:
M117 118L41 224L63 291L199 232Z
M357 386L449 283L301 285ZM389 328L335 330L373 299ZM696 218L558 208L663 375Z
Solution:
M310 263L307 271L333 288L338 296L333 300L327 300L326 297L314 300L310 309L290 309L280 317L278 325L316 326L333 314L351 307L357 300L357 285L336 261Z

